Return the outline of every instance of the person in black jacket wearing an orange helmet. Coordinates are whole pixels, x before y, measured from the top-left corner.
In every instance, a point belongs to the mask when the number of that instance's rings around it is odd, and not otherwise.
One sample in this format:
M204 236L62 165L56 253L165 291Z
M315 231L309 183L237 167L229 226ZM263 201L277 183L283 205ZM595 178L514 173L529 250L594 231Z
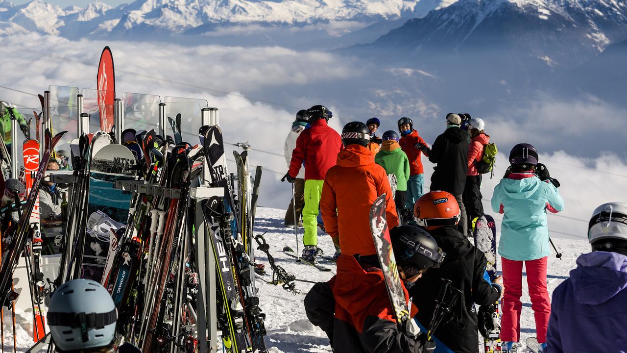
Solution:
M478 353L478 327L475 304L490 305L501 296L500 276L490 283L485 255L457 231L460 210L455 198L443 191L429 192L414 205L414 216L421 227L438 242L446 257L440 268L430 269L409 290L418 308L418 322L428 325L435 310L435 298L442 279L461 291L451 314L438 327L436 337L455 353Z

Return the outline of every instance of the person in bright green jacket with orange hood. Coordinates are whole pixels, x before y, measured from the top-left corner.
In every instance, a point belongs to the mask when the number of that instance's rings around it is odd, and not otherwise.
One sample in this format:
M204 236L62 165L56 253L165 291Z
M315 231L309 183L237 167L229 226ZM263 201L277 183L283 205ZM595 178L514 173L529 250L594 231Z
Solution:
M409 180L409 158L398 144L398 139L396 131L386 131L382 136L381 150L374 156L374 163L382 166L387 175L396 176L394 204L397 209L402 210L405 208L407 181Z

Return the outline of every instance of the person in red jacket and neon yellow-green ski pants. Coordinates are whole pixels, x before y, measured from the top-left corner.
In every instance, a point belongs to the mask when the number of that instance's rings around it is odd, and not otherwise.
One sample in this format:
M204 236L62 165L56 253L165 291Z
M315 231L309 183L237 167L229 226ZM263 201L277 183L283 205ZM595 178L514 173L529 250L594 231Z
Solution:
M330 128L327 121L333 113L325 106L313 106L307 110L310 128L305 129L296 140L292 152L290 170L283 180L293 183L298 171L305 163L305 207L303 207L303 249L302 258L315 262L318 246L318 221L322 185L327 170L335 165L337 154L342 149L340 135Z

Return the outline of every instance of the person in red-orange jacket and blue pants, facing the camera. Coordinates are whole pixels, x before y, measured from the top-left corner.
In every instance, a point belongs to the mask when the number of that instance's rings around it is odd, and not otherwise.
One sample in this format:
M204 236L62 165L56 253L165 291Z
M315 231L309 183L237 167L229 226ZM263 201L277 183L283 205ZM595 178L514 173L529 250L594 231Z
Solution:
M418 198L423 195L424 170L420 154L429 156L429 148L424 139L418 136L418 131L414 130L414 122L409 117L399 119L398 131L401 133L401 139L398 143L409 158L409 180L407 182L405 209L411 210Z

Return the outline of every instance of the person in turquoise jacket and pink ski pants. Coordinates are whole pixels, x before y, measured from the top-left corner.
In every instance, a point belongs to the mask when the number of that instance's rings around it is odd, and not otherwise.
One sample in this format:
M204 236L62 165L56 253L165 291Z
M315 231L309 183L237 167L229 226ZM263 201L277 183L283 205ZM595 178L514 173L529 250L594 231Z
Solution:
M544 182L535 174L537 150L528 143L510 151L511 166L494 188L492 210L503 214L498 254L503 269L501 340L503 352L510 352L520 339L522 311L522 267L527 272L531 308L534 310L538 342L545 344L551 315L547 290L549 228L546 211L564 209L564 200L551 180Z

